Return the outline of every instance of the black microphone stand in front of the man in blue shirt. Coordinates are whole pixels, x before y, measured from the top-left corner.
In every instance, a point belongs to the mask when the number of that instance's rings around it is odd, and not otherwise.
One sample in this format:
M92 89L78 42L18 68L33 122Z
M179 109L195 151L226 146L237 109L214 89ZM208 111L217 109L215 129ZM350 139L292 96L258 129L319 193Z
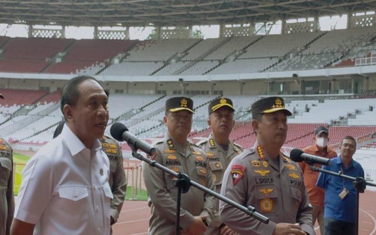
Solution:
M352 180L352 185L354 186L356 190L356 223L355 223L356 234L355 235L358 235L358 232L359 232L358 231L358 228L359 228L359 193L363 193L367 185L376 187L376 184L370 183L359 176L352 177L352 176L344 175L342 174L342 171L338 171L338 173L336 173L336 172L325 170L325 169L322 169L313 165L310 165L310 168L311 170L314 170L314 171L320 171L329 175L334 175L334 176L338 176L344 179Z

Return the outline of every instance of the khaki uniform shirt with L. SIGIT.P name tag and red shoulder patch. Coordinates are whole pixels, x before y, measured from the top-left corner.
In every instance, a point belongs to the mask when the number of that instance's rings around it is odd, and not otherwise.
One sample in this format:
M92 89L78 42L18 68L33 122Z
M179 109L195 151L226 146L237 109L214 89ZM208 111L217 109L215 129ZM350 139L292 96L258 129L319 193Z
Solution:
M243 211L220 202L223 222L242 235L271 235L276 223L299 223L314 235L312 207L308 202L303 175L298 164L280 154L279 165L258 146L234 158L225 171L221 194L267 216L264 224Z

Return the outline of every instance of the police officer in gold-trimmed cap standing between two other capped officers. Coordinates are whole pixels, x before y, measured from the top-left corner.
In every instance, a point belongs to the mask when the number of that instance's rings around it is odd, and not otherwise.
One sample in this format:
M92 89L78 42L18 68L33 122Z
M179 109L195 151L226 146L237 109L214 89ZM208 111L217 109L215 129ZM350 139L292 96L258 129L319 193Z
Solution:
M209 159L209 166L214 178L215 191L220 193L223 173L233 158L243 150L240 145L230 141L230 133L233 130L234 106L233 101L229 98L217 98L209 104L208 125L212 133L208 139L200 141L197 145L202 148ZM219 235L227 233L235 234L228 226L222 223L219 215L219 200L216 200L215 213L206 234Z

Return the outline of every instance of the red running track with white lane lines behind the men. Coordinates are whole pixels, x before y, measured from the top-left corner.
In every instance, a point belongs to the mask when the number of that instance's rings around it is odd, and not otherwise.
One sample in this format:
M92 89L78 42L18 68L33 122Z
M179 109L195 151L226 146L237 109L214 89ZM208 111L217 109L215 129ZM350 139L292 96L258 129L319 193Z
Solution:
M376 192L360 195L359 235L376 235ZM150 208L147 202L125 201L118 222L113 225L114 235L146 235ZM316 234L320 235L318 225Z

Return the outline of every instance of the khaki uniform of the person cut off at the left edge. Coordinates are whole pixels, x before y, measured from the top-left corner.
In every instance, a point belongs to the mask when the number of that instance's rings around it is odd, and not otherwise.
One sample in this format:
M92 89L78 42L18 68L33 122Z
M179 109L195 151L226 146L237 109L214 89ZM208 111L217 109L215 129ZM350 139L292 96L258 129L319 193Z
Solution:
M13 213L13 150L0 138L0 235L10 234Z

